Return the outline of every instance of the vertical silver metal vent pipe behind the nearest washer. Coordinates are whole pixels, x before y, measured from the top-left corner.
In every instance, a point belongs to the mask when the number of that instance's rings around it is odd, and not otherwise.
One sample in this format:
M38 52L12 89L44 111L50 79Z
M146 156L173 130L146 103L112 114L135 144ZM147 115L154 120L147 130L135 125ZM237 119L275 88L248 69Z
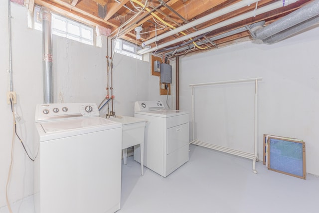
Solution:
M43 65L43 95L44 103L53 103L53 57L52 57L52 30L51 12L41 7L42 16L42 65Z

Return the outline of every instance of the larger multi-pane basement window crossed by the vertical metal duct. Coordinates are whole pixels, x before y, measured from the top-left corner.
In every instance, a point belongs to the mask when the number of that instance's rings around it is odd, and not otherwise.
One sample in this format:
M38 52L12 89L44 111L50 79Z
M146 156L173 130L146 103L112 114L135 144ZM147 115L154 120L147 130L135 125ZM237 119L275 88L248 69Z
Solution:
M61 15L52 13L52 33L81 43L94 44L93 28ZM34 7L34 28L42 30L40 6Z

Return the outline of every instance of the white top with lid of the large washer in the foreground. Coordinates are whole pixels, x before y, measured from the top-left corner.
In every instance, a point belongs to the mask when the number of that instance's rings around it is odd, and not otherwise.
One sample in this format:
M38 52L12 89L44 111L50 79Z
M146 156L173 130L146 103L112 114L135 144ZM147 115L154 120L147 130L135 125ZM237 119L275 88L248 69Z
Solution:
M121 128L122 124L101 117L75 118L35 124L40 141L54 140L91 132Z

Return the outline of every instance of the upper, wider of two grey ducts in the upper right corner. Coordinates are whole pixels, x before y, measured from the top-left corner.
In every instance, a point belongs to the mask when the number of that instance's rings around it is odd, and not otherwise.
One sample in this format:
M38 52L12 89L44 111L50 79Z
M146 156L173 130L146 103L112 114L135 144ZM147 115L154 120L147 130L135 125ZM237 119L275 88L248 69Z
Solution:
M314 0L302 8L299 8L285 17L269 24L268 26L256 30L256 38L264 40L317 15L319 15L319 0Z

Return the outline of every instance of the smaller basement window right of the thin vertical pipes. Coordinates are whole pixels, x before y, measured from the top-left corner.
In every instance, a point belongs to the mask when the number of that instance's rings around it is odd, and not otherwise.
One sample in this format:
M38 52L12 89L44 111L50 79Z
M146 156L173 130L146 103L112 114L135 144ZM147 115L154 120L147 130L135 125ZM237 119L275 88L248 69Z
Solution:
M117 39L115 43L115 52L120 53L122 55L126 55L132 58L136 58L142 60L142 55L137 54L142 47L128 42L126 40Z

